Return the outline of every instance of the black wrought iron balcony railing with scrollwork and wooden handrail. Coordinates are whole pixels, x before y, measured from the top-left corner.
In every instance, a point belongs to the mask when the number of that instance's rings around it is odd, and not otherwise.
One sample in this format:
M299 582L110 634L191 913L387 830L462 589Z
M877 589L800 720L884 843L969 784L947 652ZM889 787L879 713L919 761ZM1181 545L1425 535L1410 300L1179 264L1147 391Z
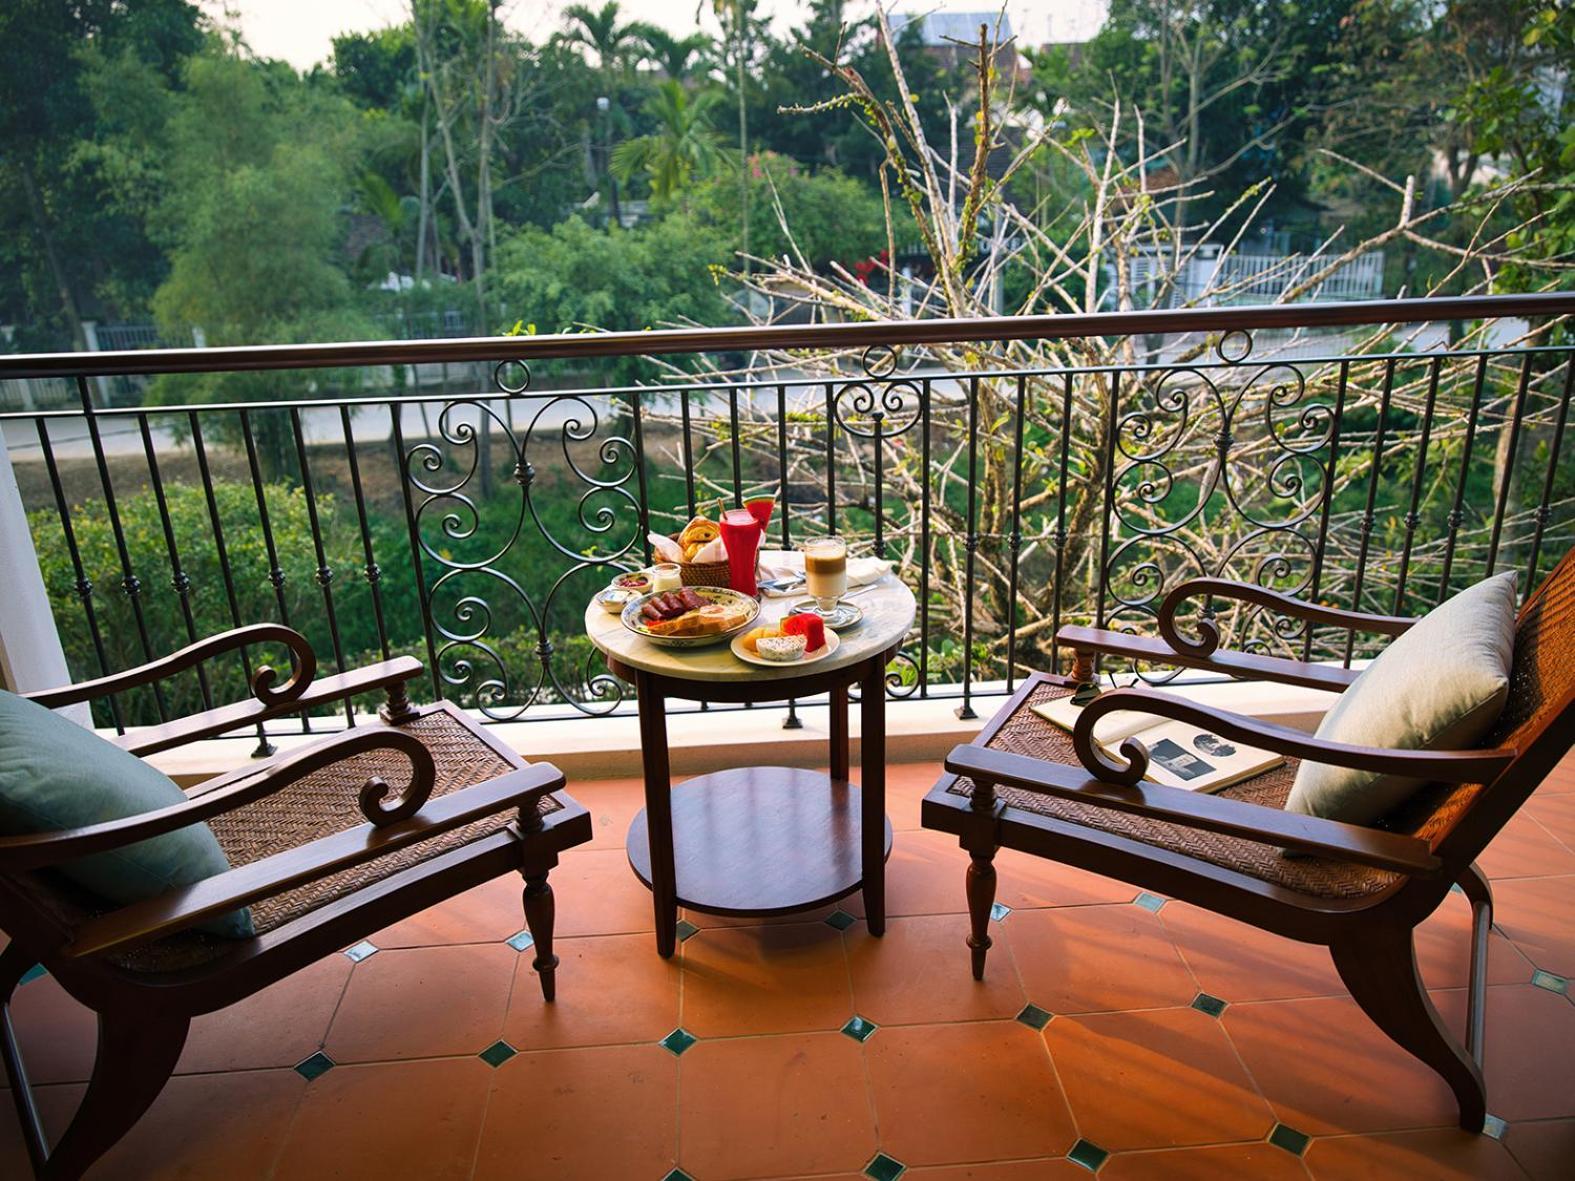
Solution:
M838 532L915 589L888 691L970 713L1057 666L1062 624L1148 628L1192 575L1383 613L1506 567L1529 586L1575 540L1570 312L1542 294L0 357L0 383L79 394L0 428L79 677L266 616L334 668L414 652L432 694L488 718L602 716L627 687L581 635L589 594L647 561L649 532L775 494L773 543ZM1501 345L1378 331L1507 317L1528 324ZM1340 326L1362 348L1254 353L1265 329ZM531 367L545 384L572 364L569 383L630 359L646 384L532 389ZM471 387L400 384L417 365ZM98 405L94 379L128 373L170 405ZM1364 652L1233 611L1238 642ZM265 657L99 718L222 701Z

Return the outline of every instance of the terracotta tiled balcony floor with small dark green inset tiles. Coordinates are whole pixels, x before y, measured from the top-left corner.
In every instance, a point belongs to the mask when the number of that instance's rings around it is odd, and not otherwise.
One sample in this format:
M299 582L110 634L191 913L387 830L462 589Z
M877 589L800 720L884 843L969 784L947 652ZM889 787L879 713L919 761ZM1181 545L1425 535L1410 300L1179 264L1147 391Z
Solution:
M93 1176L1575 1176L1575 761L1482 858L1485 1137L1454 1127L1443 1083L1358 1013L1323 951L1118 882L1002 853L973 983L965 858L918 830L936 773L890 776L885 939L857 899L772 923L688 915L673 962L622 853L638 784L576 783L597 839L553 877L556 1005L507 942L518 885L495 882L200 1020ZM1468 926L1451 896L1419 939L1457 1027ZM58 1126L91 1024L47 976L14 1017ZM9 1102L0 1175L27 1175Z

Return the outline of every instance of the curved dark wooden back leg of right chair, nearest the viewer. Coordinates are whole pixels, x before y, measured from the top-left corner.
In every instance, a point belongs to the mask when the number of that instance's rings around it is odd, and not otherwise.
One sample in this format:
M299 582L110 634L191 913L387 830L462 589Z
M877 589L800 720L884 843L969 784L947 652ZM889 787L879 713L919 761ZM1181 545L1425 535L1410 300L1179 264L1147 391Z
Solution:
M1480 1132L1487 1115L1482 1069L1438 1017L1416 970L1410 931L1373 931L1329 946L1334 967L1373 1025L1432 1066L1460 1104L1460 1126Z

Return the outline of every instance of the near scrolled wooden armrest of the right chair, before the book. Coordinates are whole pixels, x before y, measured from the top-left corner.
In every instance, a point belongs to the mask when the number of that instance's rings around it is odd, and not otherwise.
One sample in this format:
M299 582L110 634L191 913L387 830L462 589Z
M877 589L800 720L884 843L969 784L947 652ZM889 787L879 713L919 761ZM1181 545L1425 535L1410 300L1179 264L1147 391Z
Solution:
M1263 746L1279 754L1293 754L1298 759L1351 767L1359 772L1405 775L1413 779L1488 783L1515 759L1515 750L1509 746L1485 751L1395 751L1381 746L1350 746L1314 737L1290 726L1277 726L1241 713L1197 705L1172 693L1123 688L1101 693L1084 705L1073 729L1073 746L1077 751L1077 759L1090 775L1106 783L1134 784L1148 773L1148 748L1137 739L1121 742L1125 764L1112 759L1093 740L1095 723L1106 715L1123 710L1189 721L1227 739Z

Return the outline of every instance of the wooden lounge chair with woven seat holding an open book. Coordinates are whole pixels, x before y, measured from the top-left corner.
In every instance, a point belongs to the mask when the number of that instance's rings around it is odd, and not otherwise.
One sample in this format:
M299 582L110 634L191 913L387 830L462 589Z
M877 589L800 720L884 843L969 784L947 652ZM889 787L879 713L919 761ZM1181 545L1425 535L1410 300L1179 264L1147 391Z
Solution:
M1217 650L1217 630L1206 613L1199 624L1200 639L1181 636L1177 609L1195 595L1238 598L1353 630L1397 635L1410 625L1405 619L1334 611L1257 586L1206 578L1166 598L1159 614L1162 639L1063 628L1058 641L1077 650L1082 666L1074 679L1030 677L973 743L951 751L948 773L923 803L925 827L956 833L970 855L967 943L973 976L983 979L991 945L995 850L1006 846L1065 861L1287 939L1326 945L1362 1011L1443 1075L1460 1104L1460 1126L1482 1131L1482 1020L1493 894L1474 858L1575 742L1575 551L1520 611L1509 702L1479 750L1342 746L1150 688L1102 693L1084 707L1071 735L1032 712L1030 705L1065 696L1085 680L1095 652L1334 691L1354 679L1348 669ZM1217 795L1139 783L1148 764L1142 743L1123 743L1121 762L1091 742L1093 723L1117 710L1178 718L1293 757ZM1397 772L1430 786L1381 828L1339 824L1284 811L1296 759ZM1433 1009L1413 946L1416 926L1452 885L1473 909L1463 1046Z

